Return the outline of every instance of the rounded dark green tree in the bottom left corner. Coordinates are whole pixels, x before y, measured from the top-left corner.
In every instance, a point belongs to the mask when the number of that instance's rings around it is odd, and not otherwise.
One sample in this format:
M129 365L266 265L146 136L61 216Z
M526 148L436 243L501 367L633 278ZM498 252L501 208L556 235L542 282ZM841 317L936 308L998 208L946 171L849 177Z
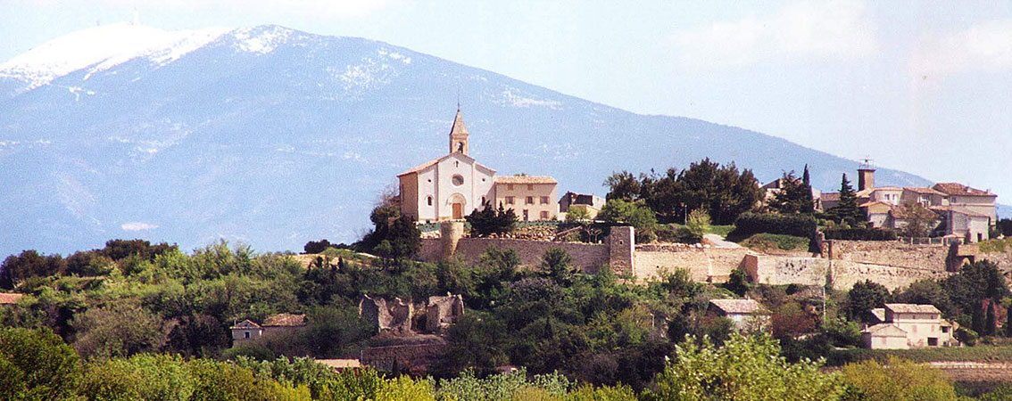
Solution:
M76 399L81 358L49 328L0 329L0 400Z

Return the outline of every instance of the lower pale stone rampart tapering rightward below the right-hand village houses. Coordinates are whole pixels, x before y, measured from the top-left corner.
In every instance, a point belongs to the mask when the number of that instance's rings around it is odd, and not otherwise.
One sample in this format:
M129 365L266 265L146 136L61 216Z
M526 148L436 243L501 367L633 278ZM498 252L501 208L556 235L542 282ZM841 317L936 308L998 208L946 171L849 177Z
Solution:
M826 259L757 255L746 256L743 265L751 281L770 285L825 285L827 272L831 269L831 263ZM949 274L930 269L832 261L831 281L833 288L840 290L850 289L854 283L864 280L871 280L895 290L921 279L944 278Z

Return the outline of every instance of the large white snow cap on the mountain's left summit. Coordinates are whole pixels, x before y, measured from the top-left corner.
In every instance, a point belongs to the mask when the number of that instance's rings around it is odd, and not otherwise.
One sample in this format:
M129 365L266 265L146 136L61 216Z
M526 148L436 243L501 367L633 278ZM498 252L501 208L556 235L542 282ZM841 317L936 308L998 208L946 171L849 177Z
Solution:
M50 40L7 61L0 65L0 77L24 82L22 91L28 91L81 69L94 66L90 76L139 57L164 66L227 31L225 28L163 30L126 23L97 26Z

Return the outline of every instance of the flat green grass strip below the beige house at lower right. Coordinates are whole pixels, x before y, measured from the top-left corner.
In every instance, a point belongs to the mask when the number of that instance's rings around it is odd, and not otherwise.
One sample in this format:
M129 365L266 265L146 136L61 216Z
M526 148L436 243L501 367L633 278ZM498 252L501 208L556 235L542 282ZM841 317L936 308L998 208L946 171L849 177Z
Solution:
M916 363L929 362L1012 362L1012 345L977 345L919 349L837 349L829 355L827 365L843 366L852 362L875 360L883 363L898 357Z

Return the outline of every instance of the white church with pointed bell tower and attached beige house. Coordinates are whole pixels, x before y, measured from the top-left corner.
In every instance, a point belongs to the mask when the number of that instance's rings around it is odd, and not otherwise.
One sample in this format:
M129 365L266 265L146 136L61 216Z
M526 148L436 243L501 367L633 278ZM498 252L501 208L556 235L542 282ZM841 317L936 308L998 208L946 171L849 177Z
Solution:
M458 220L489 203L503 205L523 221L559 218L558 186L552 177L496 177L468 156L468 127L460 109L449 130L449 153L397 176L401 214L415 221Z

